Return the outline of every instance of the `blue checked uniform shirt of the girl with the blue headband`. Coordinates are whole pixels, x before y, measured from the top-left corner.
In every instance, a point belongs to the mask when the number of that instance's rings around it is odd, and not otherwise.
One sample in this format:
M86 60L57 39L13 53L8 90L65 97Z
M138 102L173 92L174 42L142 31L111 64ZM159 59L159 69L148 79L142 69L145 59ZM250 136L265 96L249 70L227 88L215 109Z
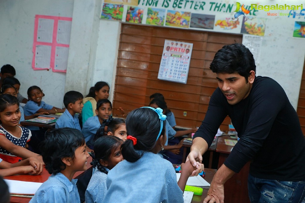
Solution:
M173 165L155 153L137 152L143 153L139 160L123 160L109 171L102 202L183 203Z

